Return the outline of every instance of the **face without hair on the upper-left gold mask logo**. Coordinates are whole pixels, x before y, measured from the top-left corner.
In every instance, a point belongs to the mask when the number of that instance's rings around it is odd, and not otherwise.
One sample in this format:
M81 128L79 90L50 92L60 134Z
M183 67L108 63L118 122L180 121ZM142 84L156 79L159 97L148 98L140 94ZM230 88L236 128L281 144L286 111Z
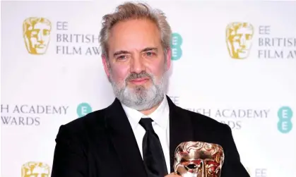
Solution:
M50 37L50 26L46 23L36 23L26 32L28 47L31 54L45 54Z

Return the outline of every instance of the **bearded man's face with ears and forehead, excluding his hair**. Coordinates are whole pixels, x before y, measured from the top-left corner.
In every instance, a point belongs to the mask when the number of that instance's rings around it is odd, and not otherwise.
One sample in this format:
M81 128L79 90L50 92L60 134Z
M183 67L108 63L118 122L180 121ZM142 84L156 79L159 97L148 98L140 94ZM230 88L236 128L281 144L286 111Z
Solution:
M158 104L165 94L165 71L170 49L164 54L160 32L150 20L126 20L112 28L105 71L117 98L139 111Z

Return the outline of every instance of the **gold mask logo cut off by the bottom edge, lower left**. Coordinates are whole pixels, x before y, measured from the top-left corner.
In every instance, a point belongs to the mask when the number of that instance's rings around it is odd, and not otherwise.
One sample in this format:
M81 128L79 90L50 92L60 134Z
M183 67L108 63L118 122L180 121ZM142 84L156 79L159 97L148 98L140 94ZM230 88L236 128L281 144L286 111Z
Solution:
M22 166L22 177L50 177L49 165L30 161Z

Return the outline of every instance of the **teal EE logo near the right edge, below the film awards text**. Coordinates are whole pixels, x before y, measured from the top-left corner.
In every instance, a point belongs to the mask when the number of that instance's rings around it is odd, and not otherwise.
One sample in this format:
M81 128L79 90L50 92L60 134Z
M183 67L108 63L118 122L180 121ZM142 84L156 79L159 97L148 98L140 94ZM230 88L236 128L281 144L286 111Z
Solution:
M289 133L292 130L292 119L293 112L288 106L283 106L278 110L278 130L281 133Z

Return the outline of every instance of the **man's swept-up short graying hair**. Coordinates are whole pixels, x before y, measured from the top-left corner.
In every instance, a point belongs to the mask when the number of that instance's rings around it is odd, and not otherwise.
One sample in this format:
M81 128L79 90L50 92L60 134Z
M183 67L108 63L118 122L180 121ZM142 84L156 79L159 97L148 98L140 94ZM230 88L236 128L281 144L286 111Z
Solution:
M172 30L169 23L167 23L165 13L159 9L151 8L148 4L126 2L117 6L114 13L109 13L102 18L102 29L100 30L100 47L102 49L102 55L105 55L105 57L108 58L107 40L110 30L116 23L124 20L141 18L152 20L155 25L158 26L162 47L165 54L167 54L167 49L170 49Z

